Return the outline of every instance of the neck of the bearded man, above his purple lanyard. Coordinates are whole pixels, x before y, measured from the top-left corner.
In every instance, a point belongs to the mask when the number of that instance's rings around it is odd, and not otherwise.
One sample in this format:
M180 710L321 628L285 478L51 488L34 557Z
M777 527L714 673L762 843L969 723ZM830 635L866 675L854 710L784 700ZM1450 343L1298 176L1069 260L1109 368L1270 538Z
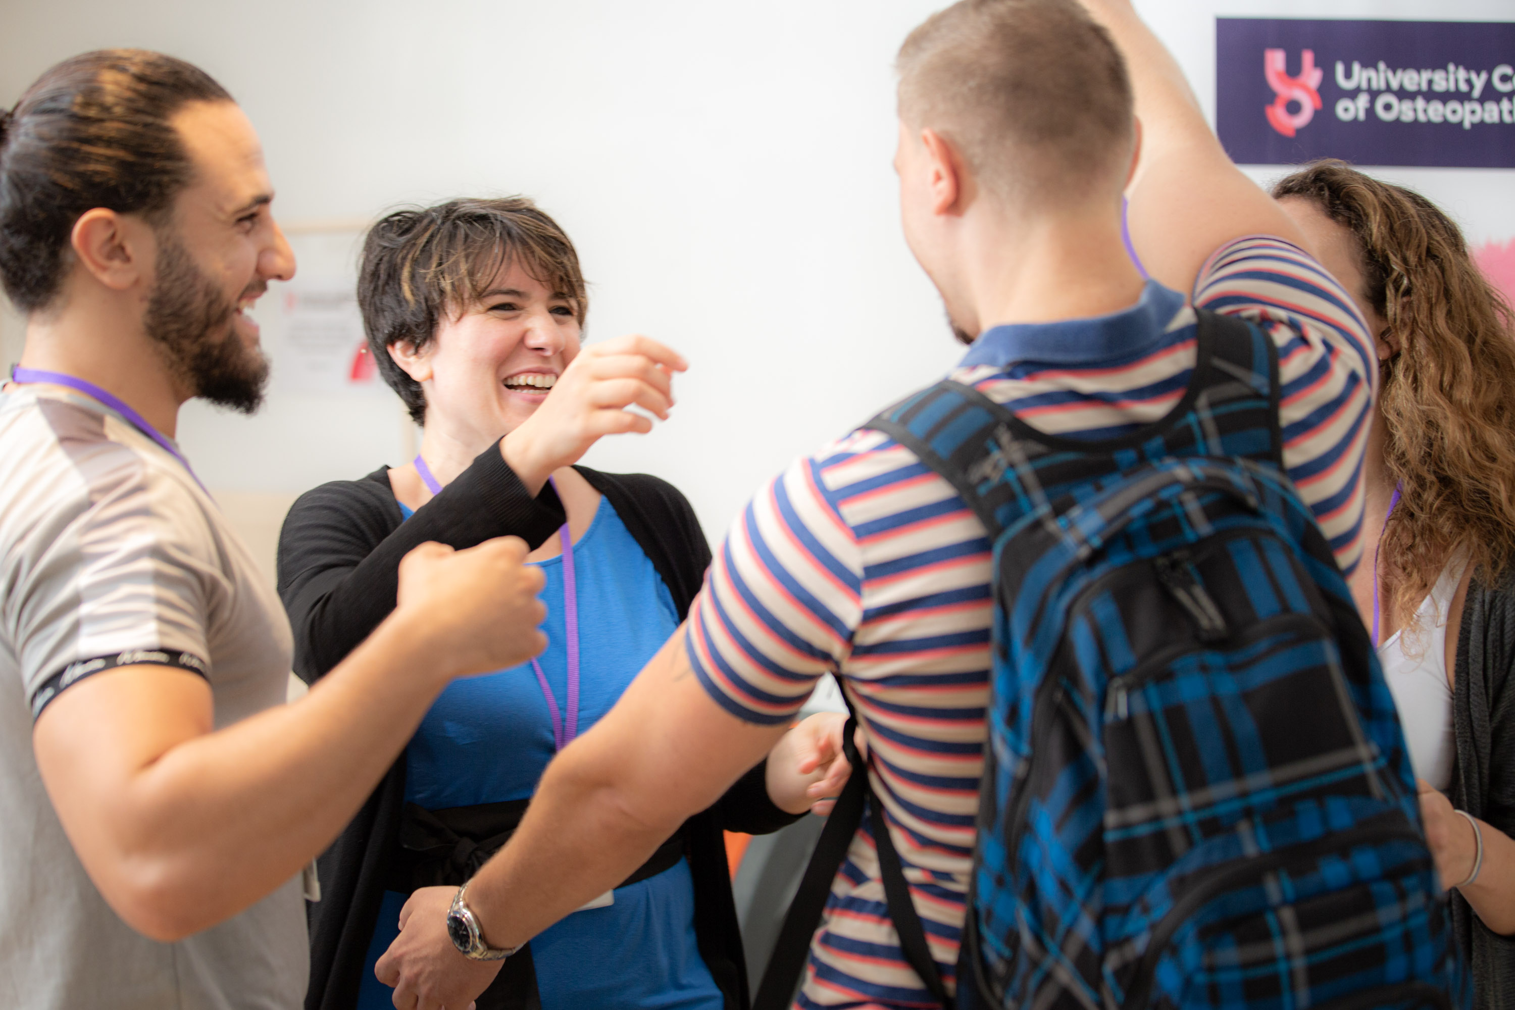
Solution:
M21 368L82 379L132 407L167 438L179 427L179 407L189 397L173 380L164 356L117 304L70 298L53 313L33 313L26 324Z

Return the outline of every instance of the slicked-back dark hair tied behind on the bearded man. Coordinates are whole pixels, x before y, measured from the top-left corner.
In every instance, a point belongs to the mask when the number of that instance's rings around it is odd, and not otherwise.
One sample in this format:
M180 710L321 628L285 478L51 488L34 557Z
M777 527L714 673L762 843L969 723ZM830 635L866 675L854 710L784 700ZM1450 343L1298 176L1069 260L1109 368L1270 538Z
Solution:
M141 48L73 56L0 114L0 285L21 312L59 294L70 233L106 207L165 220L189 183L173 117L232 95L198 67Z

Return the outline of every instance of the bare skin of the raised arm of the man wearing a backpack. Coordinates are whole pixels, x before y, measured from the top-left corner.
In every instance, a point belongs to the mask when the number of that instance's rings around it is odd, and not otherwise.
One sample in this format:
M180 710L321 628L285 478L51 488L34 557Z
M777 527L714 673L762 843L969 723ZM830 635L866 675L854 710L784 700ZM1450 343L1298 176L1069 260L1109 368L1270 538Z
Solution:
M1141 121L1141 156L1127 192L1132 244L1147 271L1191 292L1204 260L1244 235L1304 236L1221 148L1177 61L1130 0L1083 0L1126 56Z

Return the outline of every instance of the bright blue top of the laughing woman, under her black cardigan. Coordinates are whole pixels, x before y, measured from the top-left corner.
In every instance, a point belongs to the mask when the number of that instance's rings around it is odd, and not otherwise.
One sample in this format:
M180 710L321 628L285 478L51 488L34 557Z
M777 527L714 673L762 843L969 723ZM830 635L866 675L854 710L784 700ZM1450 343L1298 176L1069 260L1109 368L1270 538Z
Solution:
M405 509L409 518L409 509ZM673 597L609 501L573 545L579 592L579 731L586 731L679 627ZM562 559L547 577L547 651L538 657L558 706L568 697ZM565 713L567 715L567 713ZM530 663L454 680L405 751L405 798L427 810L523 800L553 757L547 700ZM385 892L368 949L359 1010L392 1010L374 963L398 936L406 895ZM542 1010L577 1007L721 1010L694 934L694 880L680 860L618 887L615 902L574 912L532 940Z

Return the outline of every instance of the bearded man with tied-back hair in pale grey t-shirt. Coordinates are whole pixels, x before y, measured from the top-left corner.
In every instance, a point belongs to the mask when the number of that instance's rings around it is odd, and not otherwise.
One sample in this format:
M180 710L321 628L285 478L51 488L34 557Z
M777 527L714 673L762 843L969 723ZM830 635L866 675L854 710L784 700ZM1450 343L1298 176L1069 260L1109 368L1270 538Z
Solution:
M454 677L524 662L514 538L424 544L398 607L285 706L291 634L174 442L251 412L247 309L294 274L258 135L205 71L85 53L0 112L0 1005L294 1010L301 874Z

